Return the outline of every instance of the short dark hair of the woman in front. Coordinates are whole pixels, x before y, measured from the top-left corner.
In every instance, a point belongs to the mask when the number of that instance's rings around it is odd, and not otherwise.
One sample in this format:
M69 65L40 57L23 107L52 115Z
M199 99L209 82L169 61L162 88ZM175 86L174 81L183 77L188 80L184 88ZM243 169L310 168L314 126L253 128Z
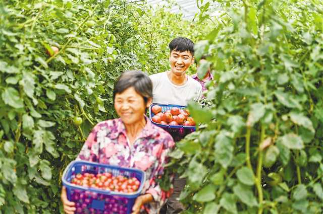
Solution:
M128 70L122 73L115 83L113 100L115 100L116 94L122 93L130 87L134 87L135 91L143 97L145 103L149 98L152 98L152 82L148 75L141 70Z

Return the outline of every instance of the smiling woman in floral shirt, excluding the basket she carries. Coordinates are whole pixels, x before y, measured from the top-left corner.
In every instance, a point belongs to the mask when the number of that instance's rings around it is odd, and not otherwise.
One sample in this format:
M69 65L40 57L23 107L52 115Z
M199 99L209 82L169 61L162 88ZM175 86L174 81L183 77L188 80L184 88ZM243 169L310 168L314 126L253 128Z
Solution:
M163 174L166 155L174 141L145 116L152 101L152 82L140 71L125 72L116 83L113 96L120 118L99 122L77 159L145 171L147 179L132 213L158 213L166 194L156 178ZM74 213L75 203L67 199L65 187L61 199L65 212Z

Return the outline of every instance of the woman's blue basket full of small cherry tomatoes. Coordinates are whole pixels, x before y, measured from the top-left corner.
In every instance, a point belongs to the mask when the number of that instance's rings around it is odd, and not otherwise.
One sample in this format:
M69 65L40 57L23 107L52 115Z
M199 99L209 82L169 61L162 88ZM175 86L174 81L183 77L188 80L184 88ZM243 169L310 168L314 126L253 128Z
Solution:
M129 214L140 195L145 172L87 161L73 161L62 176L75 213Z

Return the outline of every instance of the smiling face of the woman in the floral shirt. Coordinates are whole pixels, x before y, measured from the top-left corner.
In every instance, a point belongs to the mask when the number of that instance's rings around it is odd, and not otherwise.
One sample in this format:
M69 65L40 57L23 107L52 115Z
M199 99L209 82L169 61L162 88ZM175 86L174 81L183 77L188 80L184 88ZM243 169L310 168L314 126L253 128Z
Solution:
M127 124L135 124L142 120L145 109L151 104L151 99L145 104L143 97L130 87L122 93L116 94L115 109L121 120Z

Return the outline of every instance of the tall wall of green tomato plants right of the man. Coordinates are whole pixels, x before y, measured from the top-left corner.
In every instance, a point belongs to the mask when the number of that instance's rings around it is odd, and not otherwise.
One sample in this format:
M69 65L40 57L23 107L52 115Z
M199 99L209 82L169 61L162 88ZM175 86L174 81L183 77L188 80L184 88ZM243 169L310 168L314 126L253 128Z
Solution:
M187 178L187 212L321 213L322 3L199 3L197 21L210 4L220 15L196 44L214 75L205 108L189 106L201 125L169 164Z

